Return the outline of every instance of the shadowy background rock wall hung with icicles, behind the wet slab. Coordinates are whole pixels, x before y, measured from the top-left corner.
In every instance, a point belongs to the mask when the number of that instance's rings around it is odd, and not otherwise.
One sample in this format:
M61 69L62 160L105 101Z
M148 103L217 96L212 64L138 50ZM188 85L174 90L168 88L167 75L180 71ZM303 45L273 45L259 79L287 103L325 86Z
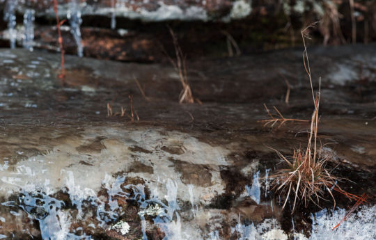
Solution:
M57 2L60 19L67 20L62 26L65 52L116 61L168 61L166 53L173 56L174 51L167 26L188 58L299 45L300 30L316 21L320 24L312 29L313 38L324 45L376 38L373 1L355 1L354 18L348 1ZM3 0L0 9L0 46L58 51L52 1Z

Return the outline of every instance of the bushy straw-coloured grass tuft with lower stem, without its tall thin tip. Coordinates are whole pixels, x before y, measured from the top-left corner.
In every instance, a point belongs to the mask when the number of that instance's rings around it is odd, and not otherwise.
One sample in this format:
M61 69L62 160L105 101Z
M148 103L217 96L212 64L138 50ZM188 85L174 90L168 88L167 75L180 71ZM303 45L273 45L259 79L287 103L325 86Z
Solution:
M310 201L319 206L320 199L326 200L326 191L334 200L334 206L336 205L332 188L336 186L340 178L329 173L326 168L328 159L318 154L320 152L317 147L319 103L320 92L315 97L315 110L311 119L311 131L309 132L306 149L298 148L294 150L290 160L284 157L281 152L274 150L288 166L288 168L279 170L275 175L277 179L274 181L274 189L279 191L280 194L286 193L283 208L290 195L295 195L292 212L295 211L297 201L304 202L305 207ZM279 181L281 181L281 184L279 184Z

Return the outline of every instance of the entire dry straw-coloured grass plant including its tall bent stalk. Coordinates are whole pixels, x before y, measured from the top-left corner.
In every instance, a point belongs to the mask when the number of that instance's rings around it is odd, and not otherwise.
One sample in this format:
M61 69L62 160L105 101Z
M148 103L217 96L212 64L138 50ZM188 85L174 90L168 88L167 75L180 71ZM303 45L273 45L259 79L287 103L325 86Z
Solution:
M301 147L294 150L292 157L285 157L278 150L273 149L281 158L281 160L287 165L287 168L279 170L274 175L275 180L272 183L273 189L280 195L285 195L285 202L283 208L287 204L290 197L294 199L292 203L292 212L295 211L297 203L304 202L304 206L308 207L308 202L313 202L320 207L320 200L328 200L328 196L334 201L334 207L336 206L336 199L332 191L338 191L347 198L353 200L361 199L357 195L352 195L340 189L337 185L342 179L331 174L331 171L327 169L328 156L320 154L321 147L318 147L318 124L319 124L319 109L320 109L320 81L319 90L314 93L313 83L311 77L311 67L308 59L308 52L306 48L305 39L307 29L315 26L316 23L309 25L306 29L301 30L301 37L304 43L304 68L308 74L308 79L311 84L311 91L313 97L313 114L311 118L311 127L308 134L308 143L306 148ZM279 111L274 108L278 113ZM268 111L269 113L269 111ZM269 114L271 115L271 114ZM283 118L283 115L279 113L281 119L274 118L272 120L265 120L265 124L276 122L284 123L289 119ZM272 117L273 118L273 117Z

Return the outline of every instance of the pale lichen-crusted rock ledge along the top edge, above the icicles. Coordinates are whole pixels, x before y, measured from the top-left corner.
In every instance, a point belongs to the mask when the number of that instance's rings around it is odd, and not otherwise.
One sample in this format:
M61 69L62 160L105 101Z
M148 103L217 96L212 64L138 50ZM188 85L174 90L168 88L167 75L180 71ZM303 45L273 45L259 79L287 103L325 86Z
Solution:
M77 5L82 15L104 15L141 19L146 22L166 20L212 21L223 19L241 19L247 17L252 10L251 1L125 1L125 0L58 0L58 13L65 17L72 5ZM25 8L36 10L36 16L55 18L49 1L18 1L16 6L20 12Z

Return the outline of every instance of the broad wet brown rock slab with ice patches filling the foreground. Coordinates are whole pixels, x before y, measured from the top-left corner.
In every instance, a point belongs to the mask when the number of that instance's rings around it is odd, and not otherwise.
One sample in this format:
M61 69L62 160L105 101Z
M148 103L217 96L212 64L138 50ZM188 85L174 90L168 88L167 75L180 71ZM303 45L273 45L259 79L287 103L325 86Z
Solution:
M315 89L322 78L323 154L331 156L328 165L336 175L354 181L341 184L354 194L376 191L373 49L309 51ZM269 148L291 155L306 145L309 125L258 122L268 118L264 103L285 118L311 118L301 52L189 61L189 83L203 104L178 104L180 81L167 64L67 56L62 81L56 77L58 55L1 50L0 237L309 237L311 225L318 224L311 213L320 209L301 206L293 218L281 210L270 179L279 159ZM291 86L288 104L285 80ZM114 114L121 107L130 113L129 95L139 121ZM340 208L352 205L337 198ZM375 213L374 204L370 198L368 210L359 210L366 223L371 220L365 212Z

